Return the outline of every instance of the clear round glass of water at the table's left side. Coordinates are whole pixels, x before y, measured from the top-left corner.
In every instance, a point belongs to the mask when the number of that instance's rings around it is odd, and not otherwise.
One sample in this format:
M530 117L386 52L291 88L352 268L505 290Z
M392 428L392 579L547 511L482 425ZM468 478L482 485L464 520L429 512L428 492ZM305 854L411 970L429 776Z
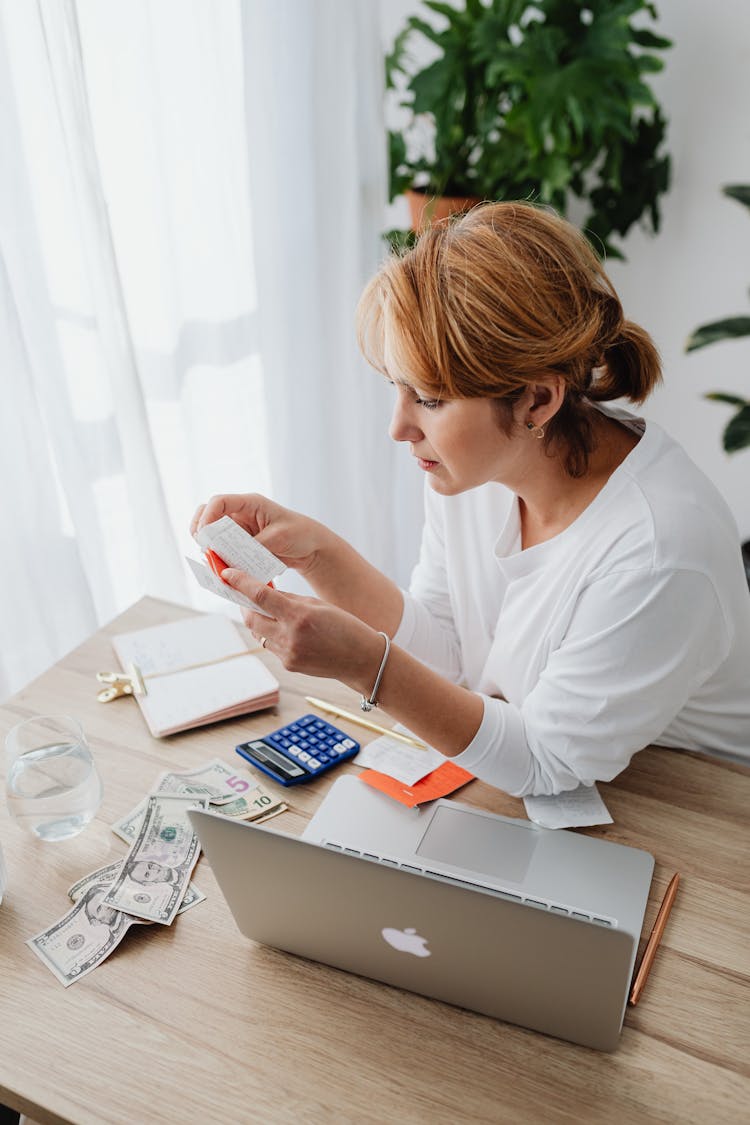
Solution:
M17 723L6 738L6 796L11 816L39 839L82 831L101 804L101 780L80 722L39 716Z

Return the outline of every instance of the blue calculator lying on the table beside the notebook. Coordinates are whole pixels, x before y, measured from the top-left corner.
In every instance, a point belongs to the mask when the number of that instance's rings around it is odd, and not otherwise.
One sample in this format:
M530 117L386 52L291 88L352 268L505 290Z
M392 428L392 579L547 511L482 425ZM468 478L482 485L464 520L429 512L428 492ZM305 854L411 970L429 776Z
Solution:
M316 714L236 746L237 754L281 785L301 785L353 758L360 744Z

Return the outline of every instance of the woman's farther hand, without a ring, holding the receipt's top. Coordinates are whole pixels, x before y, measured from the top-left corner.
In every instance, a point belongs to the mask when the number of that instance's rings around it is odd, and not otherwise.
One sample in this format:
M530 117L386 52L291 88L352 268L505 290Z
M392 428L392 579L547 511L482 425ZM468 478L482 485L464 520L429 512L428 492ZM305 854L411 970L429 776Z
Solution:
M282 507L257 493L211 496L196 511L190 533L195 536L207 523L215 523L223 515L233 519L284 566L300 574L313 569L319 550L333 534L317 520Z

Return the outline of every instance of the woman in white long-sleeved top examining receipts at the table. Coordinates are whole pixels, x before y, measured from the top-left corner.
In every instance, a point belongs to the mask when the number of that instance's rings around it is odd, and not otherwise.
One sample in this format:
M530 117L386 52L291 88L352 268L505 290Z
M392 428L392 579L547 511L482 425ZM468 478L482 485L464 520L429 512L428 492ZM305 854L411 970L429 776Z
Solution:
M582 235L484 205L387 261L358 321L426 476L421 558L401 592L322 524L214 497L193 532L228 514L317 594L225 572L271 614L245 614L263 644L515 795L608 781L650 742L747 755L737 528L658 426L603 405L642 402L659 358Z

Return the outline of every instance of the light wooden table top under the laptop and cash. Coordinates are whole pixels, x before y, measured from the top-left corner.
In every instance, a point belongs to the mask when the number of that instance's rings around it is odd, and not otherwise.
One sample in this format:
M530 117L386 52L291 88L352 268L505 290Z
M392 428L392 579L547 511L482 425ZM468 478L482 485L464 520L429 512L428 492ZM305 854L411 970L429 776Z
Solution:
M99 969L58 984L24 942L65 911L76 878L125 854L108 826L160 771L233 762L237 741L308 710L306 693L354 702L338 684L287 674L269 654L283 687L277 711L159 740L134 701L96 702L94 672L115 666L110 633L188 612L144 598L0 710L3 737L34 713L78 716L105 785L96 822L66 843L31 839L0 810L10 876L0 907L0 1102L81 1125L750 1117L750 771L698 754L648 749L600 786L614 824L590 831L657 860L647 935L669 876L683 876L613 1054L255 945L237 932L205 857L195 878L206 902L171 927L132 930ZM328 784L284 791L290 811L273 826L300 832ZM477 781L460 800L525 814L519 800Z

